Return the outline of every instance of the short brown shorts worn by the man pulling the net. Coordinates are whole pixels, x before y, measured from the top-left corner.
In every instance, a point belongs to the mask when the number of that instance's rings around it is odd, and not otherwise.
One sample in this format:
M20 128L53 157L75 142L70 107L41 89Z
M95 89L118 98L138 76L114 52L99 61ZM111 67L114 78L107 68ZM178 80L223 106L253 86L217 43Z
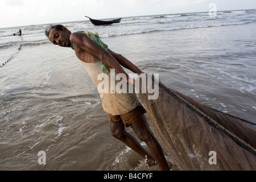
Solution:
M139 104L134 110L131 110L129 113L121 115L109 114L109 122L118 122L122 120L123 124L128 127L144 113L147 113L146 109L144 109L142 104Z

